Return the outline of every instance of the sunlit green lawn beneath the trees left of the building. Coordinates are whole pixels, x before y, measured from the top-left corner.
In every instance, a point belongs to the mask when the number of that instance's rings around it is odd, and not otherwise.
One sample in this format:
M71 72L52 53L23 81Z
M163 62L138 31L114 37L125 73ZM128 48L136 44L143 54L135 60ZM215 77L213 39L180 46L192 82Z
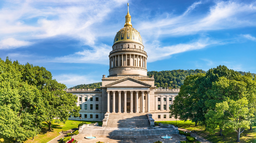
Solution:
M82 121L81 122L86 122L87 124L90 123L95 123L98 121ZM80 120L76 121L76 120L67 120L66 123L53 123L52 125L52 132L48 131L48 124L46 122L43 122L43 127L42 127L42 131L41 133L39 133L36 137L34 137L34 140L32 140L32 137L27 138L26 141L24 141L24 143L46 143L50 140L52 140L53 138L57 137L59 134L59 132L61 131L67 131L70 129L74 129L77 128L78 124L80 123ZM102 125L102 122L98 122L99 126ZM0 143L6 143L6 142L15 142L13 139L10 139L8 137L2 136L0 135Z

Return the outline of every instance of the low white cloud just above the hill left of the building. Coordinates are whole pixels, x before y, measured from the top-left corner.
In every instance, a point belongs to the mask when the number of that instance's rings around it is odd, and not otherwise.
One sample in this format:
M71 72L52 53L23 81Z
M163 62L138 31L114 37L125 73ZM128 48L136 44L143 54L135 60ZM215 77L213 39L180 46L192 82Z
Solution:
M74 87L80 84L91 84L101 82L101 80L95 80L99 78L95 75L77 75L77 74L61 74L53 76L59 83L64 83L68 88Z

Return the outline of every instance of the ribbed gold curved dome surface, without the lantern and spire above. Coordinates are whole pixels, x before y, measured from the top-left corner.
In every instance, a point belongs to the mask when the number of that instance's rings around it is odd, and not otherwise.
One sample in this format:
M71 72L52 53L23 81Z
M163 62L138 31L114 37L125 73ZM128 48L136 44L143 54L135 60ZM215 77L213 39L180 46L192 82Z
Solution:
M142 39L139 32L131 26L126 26L119 30L114 39L114 43L124 40L137 41L142 44Z

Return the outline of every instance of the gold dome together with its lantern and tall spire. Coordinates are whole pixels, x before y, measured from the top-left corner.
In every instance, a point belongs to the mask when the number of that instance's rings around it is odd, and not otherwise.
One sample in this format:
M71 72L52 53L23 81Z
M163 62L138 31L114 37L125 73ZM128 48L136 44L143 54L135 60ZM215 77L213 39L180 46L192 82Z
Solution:
M117 32L117 35L114 39L114 43L119 41L124 41L124 40L131 40L131 41L140 42L142 44L142 39L139 32L132 27L131 15L129 14L129 3L127 4L128 4L128 12L125 16L125 24L124 24L124 27Z

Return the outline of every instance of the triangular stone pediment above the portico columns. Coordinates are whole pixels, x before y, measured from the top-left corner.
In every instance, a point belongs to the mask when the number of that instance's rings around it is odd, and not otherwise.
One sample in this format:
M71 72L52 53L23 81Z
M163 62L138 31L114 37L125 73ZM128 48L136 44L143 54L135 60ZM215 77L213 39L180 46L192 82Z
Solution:
M152 85L148 83L139 81L131 77L120 79L106 85L106 87L151 87L151 86Z

